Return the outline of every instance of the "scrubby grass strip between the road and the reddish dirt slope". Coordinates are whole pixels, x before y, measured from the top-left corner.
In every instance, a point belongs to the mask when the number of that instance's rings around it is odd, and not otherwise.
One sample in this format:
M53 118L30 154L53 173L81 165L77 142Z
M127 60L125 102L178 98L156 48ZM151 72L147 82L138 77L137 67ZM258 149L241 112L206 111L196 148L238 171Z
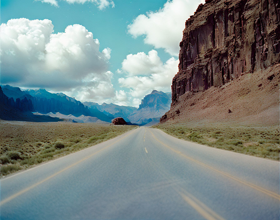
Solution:
M153 128L210 147L279 161L280 127L159 124Z

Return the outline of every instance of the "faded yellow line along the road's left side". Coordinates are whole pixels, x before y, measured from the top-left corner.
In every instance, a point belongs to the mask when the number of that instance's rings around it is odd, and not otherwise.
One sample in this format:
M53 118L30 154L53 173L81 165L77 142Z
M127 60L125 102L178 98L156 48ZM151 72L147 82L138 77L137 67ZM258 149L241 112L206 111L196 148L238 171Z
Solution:
M136 130L136 129L135 129L135 130ZM134 131L135 131L135 130L134 130ZM133 131L133 132L134 132L134 131ZM115 141L114 143L108 145L107 147L102 148L101 150L99 150L99 151L97 151L97 152L95 152L95 153L93 153L93 154L91 154L91 155L89 155L89 156L83 158L82 160L80 160L80 161L78 161L78 162L76 162L76 163L73 163L72 165L70 165L70 166L68 166L68 167L66 167L66 168L64 168L64 169L62 169L61 171L58 171L57 173L54 173L53 175L51 175L51 176L49 176L49 177L43 179L42 181L40 181L40 182L38 182L38 183L35 183L35 184L33 184L32 186L27 187L27 188L25 188L25 189L23 189L23 190L21 190L21 191L15 193L15 194L13 194L12 196L9 196L8 198L6 198L6 199L4 199L4 200L2 200L2 201L0 202L0 206L3 205L3 204L5 204L6 202L11 201L12 199L14 199L14 198L16 198L16 197L18 197L18 196L20 196L20 195L23 194L24 192L27 192L28 190L30 190L30 189L32 189L32 188L34 188L34 187L40 185L41 183L44 183L44 182L46 182L47 180L49 180L49 179L51 179L51 178L57 176L58 174L64 172L65 170L68 170L69 168L71 168L71 167L77 165L78 163L81 163L82 161L84 161L84 160L86 160L86 159L92 157L93 155L95 155L95 154L97 154L97 153L99 153L99 152L105 150L106 148L111 147L113 144L119 142L119 141L122 140L123 138L128 137L128 136L131 135L133 132L131 132L130 134L128 134L128 135L126 135L126 136L120 138L119 140Z

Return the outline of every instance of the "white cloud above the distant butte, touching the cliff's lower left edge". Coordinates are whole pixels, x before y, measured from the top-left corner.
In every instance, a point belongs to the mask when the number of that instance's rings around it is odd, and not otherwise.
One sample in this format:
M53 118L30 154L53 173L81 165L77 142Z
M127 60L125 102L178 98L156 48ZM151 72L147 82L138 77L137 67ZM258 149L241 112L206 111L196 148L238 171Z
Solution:
M138 65L143 62L145 65ZM122 64L127 76L119 78L118 82L121 87L130 89L129 94L135 98L135 104L153 90L170 92L172 79L178 72L179 60L172 57L163 63L157 52L152 50L148 55L143 52L130 54Z

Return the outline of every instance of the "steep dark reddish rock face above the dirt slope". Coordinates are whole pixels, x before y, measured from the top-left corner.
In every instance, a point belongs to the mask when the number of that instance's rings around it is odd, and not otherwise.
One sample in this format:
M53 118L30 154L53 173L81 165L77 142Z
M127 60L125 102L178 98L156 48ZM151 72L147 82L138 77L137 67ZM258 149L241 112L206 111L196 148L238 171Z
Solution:
M186 21L172 105L280 61L279 0L213 0Z

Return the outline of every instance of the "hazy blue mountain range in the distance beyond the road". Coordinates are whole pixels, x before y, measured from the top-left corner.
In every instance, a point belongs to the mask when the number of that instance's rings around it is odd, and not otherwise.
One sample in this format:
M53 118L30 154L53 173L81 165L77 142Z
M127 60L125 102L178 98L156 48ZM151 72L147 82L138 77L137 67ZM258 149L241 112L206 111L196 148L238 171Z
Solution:
M81 103L63 93L50 93L45 89L22 90L2 85L1 91L12 108L30 113L37 112L34 114L37 117L44 115L47 118L55 117L56 120L64 118L79 123L110 123L113 118L122 117L128 124L152 125L159 122L159 118L170 109L171 103L171 93L156 90L143 98L139 108L113 103L102 105L93 102Z

